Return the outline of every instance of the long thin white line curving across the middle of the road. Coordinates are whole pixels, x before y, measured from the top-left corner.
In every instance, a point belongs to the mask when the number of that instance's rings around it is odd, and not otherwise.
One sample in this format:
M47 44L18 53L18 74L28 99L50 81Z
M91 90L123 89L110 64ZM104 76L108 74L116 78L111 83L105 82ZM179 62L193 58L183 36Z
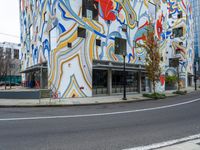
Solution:
M0 121L45 120L45 119L80 118L80 117L95 117L95 116L108 116L108 115L128 114L128 113L145 112L145 111L172 108L172 107L177 107L177 106L182 106L182 105L195 103L195 102L198 102L198 101L200 101L200 98L194 99L194 100L191 100L191 101L187 101L187 102L172 104L172 105L153 107L153 108L146 108L146 109L138 109L138 110L109 112L109 113L98 113L98 114L84 114L84 115L43 116L43 117L24 117L24 118L1 118Z

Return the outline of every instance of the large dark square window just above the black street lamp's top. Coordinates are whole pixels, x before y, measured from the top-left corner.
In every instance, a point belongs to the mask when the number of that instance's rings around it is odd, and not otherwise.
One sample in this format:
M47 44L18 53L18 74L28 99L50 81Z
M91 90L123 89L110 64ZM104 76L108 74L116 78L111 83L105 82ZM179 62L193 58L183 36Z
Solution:
M126 55L126 39L115 38L115 54Z

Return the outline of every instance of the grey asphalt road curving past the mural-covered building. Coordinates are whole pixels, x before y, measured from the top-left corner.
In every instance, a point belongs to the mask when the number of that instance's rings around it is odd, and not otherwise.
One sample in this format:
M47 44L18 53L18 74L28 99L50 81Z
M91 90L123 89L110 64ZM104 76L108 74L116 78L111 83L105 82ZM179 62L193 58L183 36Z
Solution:
M190 102L197 98L200 92L114 105L0 108L0 150L122 150L199 134L200 100Z

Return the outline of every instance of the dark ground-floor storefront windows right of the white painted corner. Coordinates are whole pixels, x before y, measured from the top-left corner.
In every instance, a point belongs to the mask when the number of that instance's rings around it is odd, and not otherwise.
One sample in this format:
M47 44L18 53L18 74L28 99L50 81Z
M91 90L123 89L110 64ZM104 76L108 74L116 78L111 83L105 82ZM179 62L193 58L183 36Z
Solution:
M147 81L145 73L141 73L141 82L140 82L139 72L126 71L127 92L140 92L139 91L140 83L141 83L141 91L146 91ZM124 86L123 71L120 70L108 71L108 70L93 69L93 95L123 93L123 86Z

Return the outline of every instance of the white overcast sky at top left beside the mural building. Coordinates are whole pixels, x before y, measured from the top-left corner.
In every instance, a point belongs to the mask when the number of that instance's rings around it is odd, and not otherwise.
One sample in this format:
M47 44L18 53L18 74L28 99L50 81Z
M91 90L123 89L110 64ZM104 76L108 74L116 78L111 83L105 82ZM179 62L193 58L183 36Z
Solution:
M20 43L19 0L0 0L0 42Z

